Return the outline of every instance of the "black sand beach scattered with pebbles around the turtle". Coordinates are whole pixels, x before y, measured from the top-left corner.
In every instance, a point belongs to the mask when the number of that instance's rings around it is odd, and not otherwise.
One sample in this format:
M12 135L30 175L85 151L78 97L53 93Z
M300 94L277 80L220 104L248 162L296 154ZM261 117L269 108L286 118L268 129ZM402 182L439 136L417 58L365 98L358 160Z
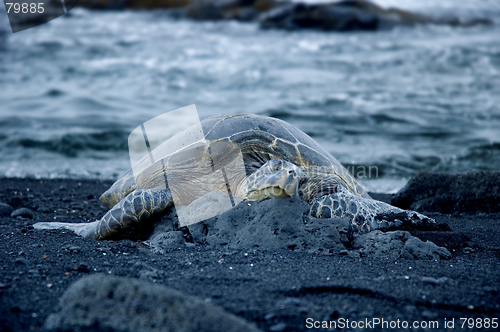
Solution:
M32 224L39 221L100 218L106 210L98 198L111 185L109 181L1 179L0 329L43 330L47 317L61 310L59 299L71 284L101 274L133 278L144 285L160 284L196 296L263 331L327 330L308 327L316 321L340 324L347 319L350 327L353 321L379 319L399 320L398 324L406 321L410 326L416 322L432 331L493 331L493 319L500 320L499 176L495 172L478 174L453 181L448 175L427 175L418 192L427 193L425 197L415 193L396 197L395 201L447 225L431 231L410 230L451 252L451 259L437 261L204 245L170 248L160 255L141 241L95 241L70 231L33 229ZM464 185L450 187L450 183ZM373 197L388 202L394 198ZM472 200L476 203L469 204ZM33 216L11 217L12 210L5 204L16 211L30 209ZM481 208L472 208L479 205ZM448 209L440 211L440 206ZM468 321L464 324L461 318ZM472 326L468 325L471 319ZM438 325L431 328L431 321ZM446 327L445 321L453 322L454 329ZM102 321L73 330L118 331ZM388 328L378 324L368 330ZM426 329L415 326L412 330Z

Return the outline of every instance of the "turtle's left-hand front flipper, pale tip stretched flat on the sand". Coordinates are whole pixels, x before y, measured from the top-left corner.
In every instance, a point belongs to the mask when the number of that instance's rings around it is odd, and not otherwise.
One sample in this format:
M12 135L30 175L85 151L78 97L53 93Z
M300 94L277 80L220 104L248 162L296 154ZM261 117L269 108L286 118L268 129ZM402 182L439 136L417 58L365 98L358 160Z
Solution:
M35 229L68 229L84 238L110 240L137 237L139 229L173 204L168 190L138 189L122 199L101 219L90 223L39 222ZM135 236L134 236L135 235Z

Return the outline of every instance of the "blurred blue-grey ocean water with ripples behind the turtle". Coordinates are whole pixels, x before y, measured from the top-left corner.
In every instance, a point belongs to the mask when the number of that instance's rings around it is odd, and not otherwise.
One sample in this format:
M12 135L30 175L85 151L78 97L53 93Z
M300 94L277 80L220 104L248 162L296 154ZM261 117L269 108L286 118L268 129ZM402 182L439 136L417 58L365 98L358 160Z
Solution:
M500 2L378 3L495 24L289 32L77 7L12 34L0 6L0 176L115 179L128 134L190 104L288 121L374 192L500 169Z

